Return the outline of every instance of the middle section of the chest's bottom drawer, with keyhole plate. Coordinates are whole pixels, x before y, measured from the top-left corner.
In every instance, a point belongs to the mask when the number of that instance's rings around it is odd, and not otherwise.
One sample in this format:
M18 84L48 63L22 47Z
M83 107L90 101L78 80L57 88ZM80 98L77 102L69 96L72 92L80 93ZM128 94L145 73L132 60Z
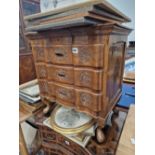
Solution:
M73 87L55 84L56 101L67 106L73 106L75 102L75 91Z

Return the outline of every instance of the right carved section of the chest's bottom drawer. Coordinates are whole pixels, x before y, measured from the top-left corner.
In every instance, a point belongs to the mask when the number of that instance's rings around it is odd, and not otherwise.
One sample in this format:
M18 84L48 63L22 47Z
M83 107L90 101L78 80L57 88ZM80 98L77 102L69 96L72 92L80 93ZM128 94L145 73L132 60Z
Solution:
M88 90L75 89L76 106L89 109L90 111L101 111L102 93L93 93Z

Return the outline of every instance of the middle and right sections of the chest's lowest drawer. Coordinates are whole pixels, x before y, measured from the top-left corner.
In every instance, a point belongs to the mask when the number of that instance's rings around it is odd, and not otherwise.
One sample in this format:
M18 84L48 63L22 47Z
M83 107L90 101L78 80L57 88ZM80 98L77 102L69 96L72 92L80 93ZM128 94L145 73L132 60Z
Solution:
M66 105L89 109L98 112L101 110L102 93L94 93L91 90L77 89L73 86L48 82L49 97L55 97L56 102ZM88 111L89 111L88 110Z

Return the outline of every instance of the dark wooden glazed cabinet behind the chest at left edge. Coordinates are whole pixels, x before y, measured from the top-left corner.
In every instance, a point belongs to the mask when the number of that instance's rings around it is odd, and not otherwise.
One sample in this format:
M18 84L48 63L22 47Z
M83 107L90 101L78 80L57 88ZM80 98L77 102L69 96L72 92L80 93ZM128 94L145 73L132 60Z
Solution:
M31 47L25 37L24 16L40 12L39 0L19 1L19 83L36 78Z

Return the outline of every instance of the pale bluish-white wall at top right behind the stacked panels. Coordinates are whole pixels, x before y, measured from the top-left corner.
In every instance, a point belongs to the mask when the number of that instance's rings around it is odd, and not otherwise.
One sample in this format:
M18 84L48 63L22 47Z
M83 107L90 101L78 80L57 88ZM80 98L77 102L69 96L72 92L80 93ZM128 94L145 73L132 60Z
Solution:
M118 10L123 12L125 15L131 18L132 22L125 23L123 25L135 29L135 0L107 0L107 1L110 2ZM135 41L134 30L130 33L128 41Z

